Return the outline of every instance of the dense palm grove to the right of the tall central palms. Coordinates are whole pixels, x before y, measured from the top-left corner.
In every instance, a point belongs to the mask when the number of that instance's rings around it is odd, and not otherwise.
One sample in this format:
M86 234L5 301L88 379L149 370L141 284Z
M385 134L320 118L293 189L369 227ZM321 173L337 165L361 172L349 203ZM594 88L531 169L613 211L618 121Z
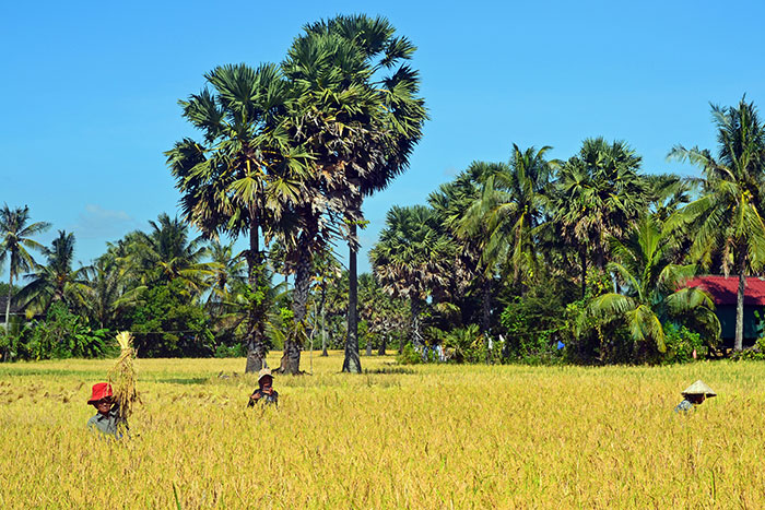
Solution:
M426 204L393 206L370 251L375 277L409 303L426 357L671 363L719 355L711 296L685 282L762 275L765 126L745 98L713 106L717 151L668 158L702 177L648 174L624 141L587 139L566 161L513 145L474 162ZM416 356L414 357L416 360Z

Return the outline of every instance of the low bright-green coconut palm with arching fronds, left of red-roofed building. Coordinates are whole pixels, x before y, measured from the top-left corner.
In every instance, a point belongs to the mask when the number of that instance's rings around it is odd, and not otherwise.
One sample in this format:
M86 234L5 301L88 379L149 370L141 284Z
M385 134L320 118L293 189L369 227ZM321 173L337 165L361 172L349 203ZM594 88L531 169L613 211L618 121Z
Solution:
M662 323L669 318L693 318L703 324L713 342L719 339L720 323L706 292L681 288L693 276L695 265L669 263L673 226L660 229L654 218L644 217L624 241L610 239L617 259L608 268L621 283L622 294L603 294L592 300L586 313L605 321L623 320L636 344L648 344L666 352Z

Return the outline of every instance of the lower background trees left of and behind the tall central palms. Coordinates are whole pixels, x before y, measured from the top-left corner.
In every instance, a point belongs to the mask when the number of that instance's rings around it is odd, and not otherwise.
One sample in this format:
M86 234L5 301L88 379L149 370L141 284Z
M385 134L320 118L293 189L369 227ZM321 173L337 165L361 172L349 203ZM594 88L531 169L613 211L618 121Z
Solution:
M233 241L196 236L164 213L107 244L89 265L75 264L72 233L59 230L49 246L34 239L49 228L32 223L26 206L0 209L0 260L10 271L9 284L0 284L10 316L0 331L2 359L108 356L118 331L133 333L141 357L245 356L254 301L266 315L264 348L284 347L294 289L274 273L285 265L280 244L264 253L261 285L252 288ZM331 252L314 259L311 274L305 334L326 356L345 343L349 274ZM401 344L405 321L369 274L360 276L360 296L362 345L385 354L387 343ZM399 332L381 325L391 321ZM378 333L381 344L373 340Z

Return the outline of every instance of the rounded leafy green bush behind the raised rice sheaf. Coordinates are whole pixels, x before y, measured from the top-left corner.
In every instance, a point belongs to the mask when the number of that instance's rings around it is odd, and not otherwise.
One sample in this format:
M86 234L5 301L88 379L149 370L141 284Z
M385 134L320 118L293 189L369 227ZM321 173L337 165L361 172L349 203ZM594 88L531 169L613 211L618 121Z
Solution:
M131 332L139 356L211 356L214 335L201 306L191 303L178 280L145 293L132 313Z

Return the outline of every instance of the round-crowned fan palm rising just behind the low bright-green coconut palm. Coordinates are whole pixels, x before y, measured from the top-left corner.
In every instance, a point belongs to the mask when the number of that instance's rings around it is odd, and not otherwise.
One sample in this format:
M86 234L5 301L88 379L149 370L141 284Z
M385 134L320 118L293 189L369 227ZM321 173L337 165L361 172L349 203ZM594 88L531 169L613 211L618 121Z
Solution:
M588 260L605 268L609 237L629 229L646 207L640 156L622 141L587 139L579 154L560 169L555 181L555 222L579 257L581 295Z

